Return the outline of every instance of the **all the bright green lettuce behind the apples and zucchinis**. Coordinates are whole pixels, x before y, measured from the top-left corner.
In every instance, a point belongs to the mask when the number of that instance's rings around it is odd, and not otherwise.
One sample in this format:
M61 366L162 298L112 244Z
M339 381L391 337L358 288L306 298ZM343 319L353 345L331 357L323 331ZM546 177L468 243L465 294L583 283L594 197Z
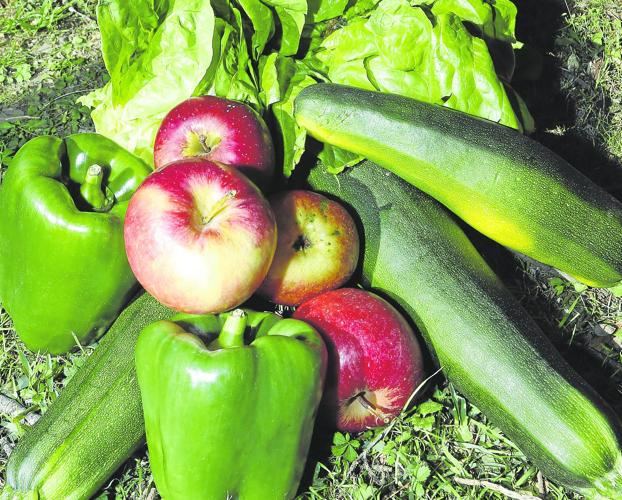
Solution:
M98 132L150 162L157 128L179 102L244 101L275 124L288 176L306 148L293 100L317 81L531 130L509 86L515 21L510 0L106 0L98 22L110 82L81 101L95 108ZM318 156L332 172L360 160L332 146Z

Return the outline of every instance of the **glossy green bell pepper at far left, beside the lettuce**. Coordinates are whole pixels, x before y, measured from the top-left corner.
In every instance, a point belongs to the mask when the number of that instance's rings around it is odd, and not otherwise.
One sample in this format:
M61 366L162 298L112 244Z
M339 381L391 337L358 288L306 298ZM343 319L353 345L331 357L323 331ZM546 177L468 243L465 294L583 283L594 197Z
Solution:
M150 172L97 134L41 136L17 152L0 185L0 302L29 349L66 352L116 318L136 285L125 211Z

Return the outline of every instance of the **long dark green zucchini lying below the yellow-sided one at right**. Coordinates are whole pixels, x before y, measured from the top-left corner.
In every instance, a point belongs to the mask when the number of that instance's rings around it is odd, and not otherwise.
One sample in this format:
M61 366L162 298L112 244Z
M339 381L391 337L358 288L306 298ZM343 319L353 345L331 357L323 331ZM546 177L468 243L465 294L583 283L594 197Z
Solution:
M366 162L312 189L360 223L363 284L410 315L447 378L550 479L622 497L620 421L435 200Z

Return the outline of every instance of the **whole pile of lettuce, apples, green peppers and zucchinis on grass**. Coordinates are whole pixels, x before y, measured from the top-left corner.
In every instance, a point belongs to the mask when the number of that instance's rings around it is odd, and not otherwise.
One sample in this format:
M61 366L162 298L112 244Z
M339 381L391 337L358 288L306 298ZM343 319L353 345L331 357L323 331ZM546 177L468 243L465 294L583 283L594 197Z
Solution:
M408 409L419 333L547 477L619 497L622 422L447 210L587 286L622 282L622 204L524 135L516 14L101 1L110 81L81 98L97 134L11 162L0 300L34 351L103 338L0 498L88 498L145 441L164 498L293 498L314 427Z

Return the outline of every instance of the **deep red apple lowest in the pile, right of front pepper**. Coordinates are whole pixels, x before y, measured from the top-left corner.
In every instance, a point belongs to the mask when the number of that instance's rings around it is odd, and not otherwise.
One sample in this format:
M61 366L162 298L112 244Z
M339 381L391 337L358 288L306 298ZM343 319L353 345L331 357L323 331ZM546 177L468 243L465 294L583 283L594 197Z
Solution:
M423 380L421 349L412 329L373 293L333 290L302 304L294 317L315 327L326 343L321 412L339 430L386 425Z

